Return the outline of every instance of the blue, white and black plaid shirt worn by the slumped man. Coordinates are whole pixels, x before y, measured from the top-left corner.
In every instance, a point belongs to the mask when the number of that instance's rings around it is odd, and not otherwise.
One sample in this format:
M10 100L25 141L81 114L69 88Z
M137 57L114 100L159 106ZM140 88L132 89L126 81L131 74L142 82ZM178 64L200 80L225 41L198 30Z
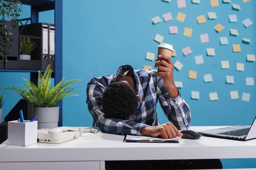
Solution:
M105 118L102 108L102 94L106 87L115 82L124 71L133 72L137 93L139 94L137 119L128 121L123 119ZM140 129L146 126L157 126L156 104L159 100L162 109L169 121L178 129L188 129L191 124L191 113L189 105L182 95L176 98L168 96L168 91L163 85L163 79L158 77L155 70L141 69L133 70L129 65L120 66L117 74L94 77L87 86L88 109L99 128L104 132L115 134L142 135Z

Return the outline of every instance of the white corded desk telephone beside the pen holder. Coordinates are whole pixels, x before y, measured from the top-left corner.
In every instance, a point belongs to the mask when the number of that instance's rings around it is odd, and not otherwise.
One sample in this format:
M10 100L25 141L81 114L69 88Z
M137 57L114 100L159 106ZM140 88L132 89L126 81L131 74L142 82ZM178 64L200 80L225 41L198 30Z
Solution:
M72 128L68 126L57 127L52 129L38 129L37 142L59 144L64 141L69 141L81 137L82 133L92 132L98 134L98 130L92 128Z

